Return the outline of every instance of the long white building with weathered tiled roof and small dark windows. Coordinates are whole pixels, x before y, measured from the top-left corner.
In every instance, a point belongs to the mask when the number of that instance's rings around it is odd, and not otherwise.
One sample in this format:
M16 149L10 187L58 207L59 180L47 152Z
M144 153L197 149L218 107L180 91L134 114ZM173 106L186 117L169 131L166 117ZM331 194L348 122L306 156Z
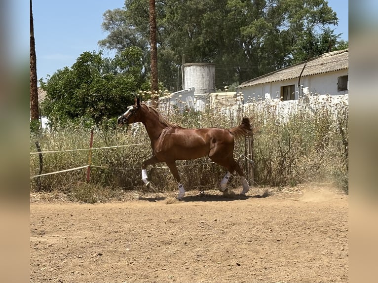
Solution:
M297 100L302 93L341 95L348 93L348 49L325 53L308 62L274 71L237 86L245 102L255 98Z

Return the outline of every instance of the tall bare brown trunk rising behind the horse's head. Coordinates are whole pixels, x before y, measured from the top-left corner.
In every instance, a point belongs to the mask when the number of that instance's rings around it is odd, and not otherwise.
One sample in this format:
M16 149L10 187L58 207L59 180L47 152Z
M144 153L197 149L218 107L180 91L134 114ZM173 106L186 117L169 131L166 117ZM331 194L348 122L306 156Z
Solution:
M151 90L152 101L154 106L157 105L157 96L154 96L154 92L157 95L157 46L156 46L156 13L155 13L155 0L150 1L150 38L151 38Z

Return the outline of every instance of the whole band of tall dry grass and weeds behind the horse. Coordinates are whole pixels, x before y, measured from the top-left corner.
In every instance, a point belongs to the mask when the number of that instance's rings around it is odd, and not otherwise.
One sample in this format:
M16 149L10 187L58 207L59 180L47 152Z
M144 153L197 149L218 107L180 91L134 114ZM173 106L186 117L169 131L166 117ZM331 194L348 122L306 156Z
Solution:
M348 105L319 101L309 104L300 99L295 111L288 111L280 102L237 99L243 107L217 100L195 111L195 102L175 100L168 112L170 122L188 128L219 127L229 129L244 116L254 116L260 128L254 136L254 183L251 185L293 186L302 182L333 183L348 191ZM273 104L273 105L272 105ZM124 109L120 109L122 112ZM86 183L86 170L31 178L31 191L59 191L72 200L96 202L115 197L120 190L145 189L141 180L142 162L151 157L150 139L141 124L119 128L115 119L100 126L92 123L55 125L38 134L31 132L30 151L38 141L42 151L71 150L89 147L90 131L94 131L93 147L126 145L92 151L91 180ZM243 156L244 141L235 143L234 157ZM241 158L243 160L243 157ZM66 151L43 154L43 172L55 172L88 164L88 151ZM244 162L241 162L244 164ZM177 161L182 183L187 190L213 189L226 170L209 158ZM94 167L99 166L99 167ZM39 173L38 155L31 155L30 175ZM176 182L164 163L148 169L149 179L159 190L176 190ZM40 182L39 182L40 181ZM239 178L231 178L231 187L240 186ZM106 195L104 196L104 192Z

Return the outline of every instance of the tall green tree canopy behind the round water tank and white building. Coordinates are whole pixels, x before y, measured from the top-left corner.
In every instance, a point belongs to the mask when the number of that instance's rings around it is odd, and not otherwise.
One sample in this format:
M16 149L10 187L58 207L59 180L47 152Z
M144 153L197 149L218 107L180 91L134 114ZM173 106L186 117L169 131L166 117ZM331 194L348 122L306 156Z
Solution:
M183 54L187 63L215 63L216 87L222 88L292 64L299 60L298 41L308 31L321 37L314 31L327 32L329 25L338 23L326 0L155 2L159 81L170 90L177 88ZM146 72L150 71L148 8L146 0L125 0L124 9L106 11L103 28L110 34L99 41L100 46L118 51L141 47Z

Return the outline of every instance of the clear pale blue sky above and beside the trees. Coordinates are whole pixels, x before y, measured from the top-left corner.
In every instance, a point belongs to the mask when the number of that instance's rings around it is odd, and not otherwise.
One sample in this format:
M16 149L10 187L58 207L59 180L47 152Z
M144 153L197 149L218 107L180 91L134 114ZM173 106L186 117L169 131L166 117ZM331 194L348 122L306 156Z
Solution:
M348 2L328 0L328 4L339 18L339 26L331 28L348 40ZM99 51L98 41L107 36L101 28L103 13L123 6L124 0L33 0L38 80L71 67L84 51ZM106 57L113 54L104 51Z

